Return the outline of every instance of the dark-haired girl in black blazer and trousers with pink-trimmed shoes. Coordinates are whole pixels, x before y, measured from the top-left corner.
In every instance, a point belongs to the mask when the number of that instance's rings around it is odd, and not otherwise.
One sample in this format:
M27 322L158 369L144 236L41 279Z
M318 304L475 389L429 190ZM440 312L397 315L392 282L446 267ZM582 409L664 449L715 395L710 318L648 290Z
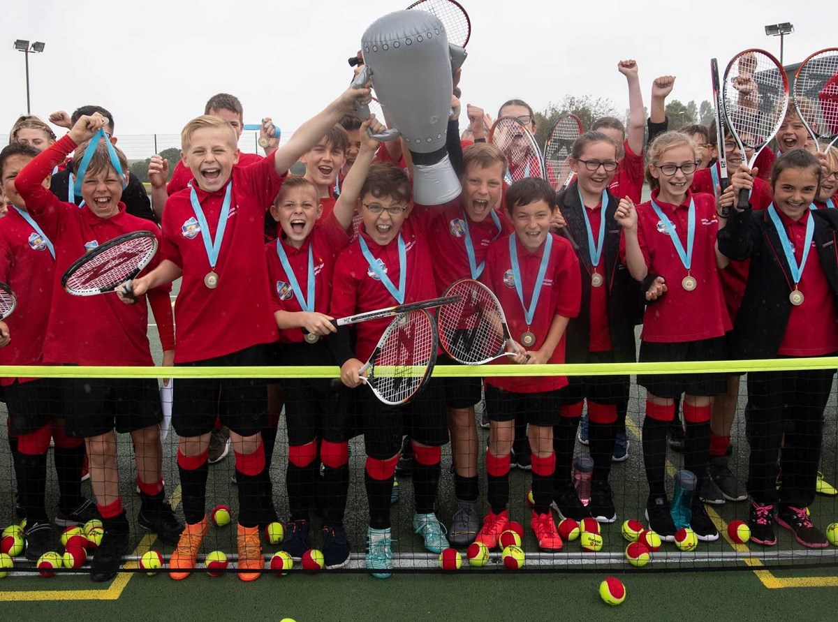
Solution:
M734 174L732 196L749 189L755 174ZM719 231L719 248L727 257L751 257L753 262L734 331L737 358L838 352L838 214L810 210L820 175L818 159L804 149L784 153L771 172L773 204L758 212L733 210ZM806 508L815 500L833 376L834 367L747 375L747 490L753 500L753 542L776 545L776 521L804 547L829 546Z

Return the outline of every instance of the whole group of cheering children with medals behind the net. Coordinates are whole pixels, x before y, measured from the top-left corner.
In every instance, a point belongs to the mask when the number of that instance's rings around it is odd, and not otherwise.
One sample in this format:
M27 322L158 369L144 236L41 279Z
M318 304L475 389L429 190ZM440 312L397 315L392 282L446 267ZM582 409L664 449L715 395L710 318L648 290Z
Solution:
M531 470L530 526L542 550L562 547L551 508L560 518L616 521L609 474L612 461L628 450L629 376L434 377L401 406L380 402L362 386L360 370L388 320L352 328L336 328L332 320L436 298L459 279L484 282L504 308L512 341L503 362L634 362L637 324L643 324L641 361L838 352L838 212L829 209L838 189L838 153L810 153L789 111L779 135L783 153L765 181L767 172L747 168L749 154L739 153L729 133L718 145L715 127L665 131L672 76L654 80L646 146L637 64L621 61L618 70L629 86L629 127L610 117L597 120L574 144L576 177L558 193L540 178L507 186L505 174L515 163L486 142L484 111L468 106L473 140L461 143L455 101L448 149L462 193L445 205L416 205L410 153L399 141L376 141L384 120L354 114L356 101L370 100L369 88L344 91L282 148L266 119L264 158L237 148L241 103L225 94L211 98L206 114L184 127L171 180L172 163L151 159L150 202L144 191L132 192L137 180L115 147L105 109L85 106L72 117L50 117L70 128L59 140L34 117L18 122L0 152L9 204L0 220L0 281L19 301L0 323L0 363L153 365L147 299L163 365L340 368L340 382L179 380L172 425L184 521L165 500L155 381L4 378L27 555L37 558L54 547L44 506L53 438L56 522L101 517L104 536L91 576L105 581L115 575L129 542L115 431L129 432L141 495L137 524L175 547L170 576L187 578L209 529L209 438L220 422L230 429L235 454L238 574L245 581L259 578L260 528L277 521L271 464L283 406L290 515L284 548L292 557L318 545L327 568L348 562L343 523L349 440L356 433L364 434L366 455L365 561L377 578L393 568L391 500L396 466L406 454L413 527L429 552L475 540L498 546L510 526L513 466ZM518 117L535 131L524 101L506 102L501 116ZM90 141L91 162L79 172L75 163ZM735 171L723 192L714 163L720 148ZM306 165L304 176L288 173L297 160ZM79 184L74 174L83 176ZM641 203L644 177L652 194ZM751 209L723 215L742 189L751 190ZM160 250L133 280L131 295L75 298L60 286L66 267L85 251L141 230L158 236ZM178 278L173 314L169 293ZM727 467L739 376L639 376L647 391L642 445L649 528L665 541L675 538L665 459L683 396L685 469L696 475L700 491L691 527L699 539L718 538L705 502L750 495L754 542L775 544L776 521L804 546L825 546L806 507L815 494L832 376L829 369L748 375L747 490ZM481 517L474 407L483 398L489 512ZM583 501L572 460L586 403L593 469L590 498ZM446 528L435 503L449 441L455 499ZM85 448L95 506L80 490ZM319 542L311 531L315 511L322 518Z

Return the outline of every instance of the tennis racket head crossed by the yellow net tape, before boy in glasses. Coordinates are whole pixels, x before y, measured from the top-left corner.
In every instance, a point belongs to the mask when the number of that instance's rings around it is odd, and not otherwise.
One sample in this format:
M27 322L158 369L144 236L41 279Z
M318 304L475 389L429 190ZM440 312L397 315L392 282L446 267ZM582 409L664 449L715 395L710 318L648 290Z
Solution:
M437 327L427 310L398 314L358 373L381 402L404 404L431 377L437 347Z

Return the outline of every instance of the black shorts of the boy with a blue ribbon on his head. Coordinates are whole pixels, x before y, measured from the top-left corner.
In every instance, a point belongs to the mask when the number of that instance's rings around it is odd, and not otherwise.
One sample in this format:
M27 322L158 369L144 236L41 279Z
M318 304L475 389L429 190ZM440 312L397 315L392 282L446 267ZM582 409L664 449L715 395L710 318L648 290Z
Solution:
M134 432L163 421L154 378L65 378L67 436Z

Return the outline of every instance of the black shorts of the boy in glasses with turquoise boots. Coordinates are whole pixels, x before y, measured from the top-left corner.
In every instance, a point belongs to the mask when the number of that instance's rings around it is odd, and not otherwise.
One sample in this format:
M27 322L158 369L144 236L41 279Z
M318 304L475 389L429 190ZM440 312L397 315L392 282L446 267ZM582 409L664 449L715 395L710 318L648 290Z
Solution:
M380 402L369 386L360 386L357 391L360 391L360 407L364 411L366 454L370 458L385 460L395 456L404 434L428 447L442 447L448 442L445 389L441 378L431 378L410 402L400 406Z

